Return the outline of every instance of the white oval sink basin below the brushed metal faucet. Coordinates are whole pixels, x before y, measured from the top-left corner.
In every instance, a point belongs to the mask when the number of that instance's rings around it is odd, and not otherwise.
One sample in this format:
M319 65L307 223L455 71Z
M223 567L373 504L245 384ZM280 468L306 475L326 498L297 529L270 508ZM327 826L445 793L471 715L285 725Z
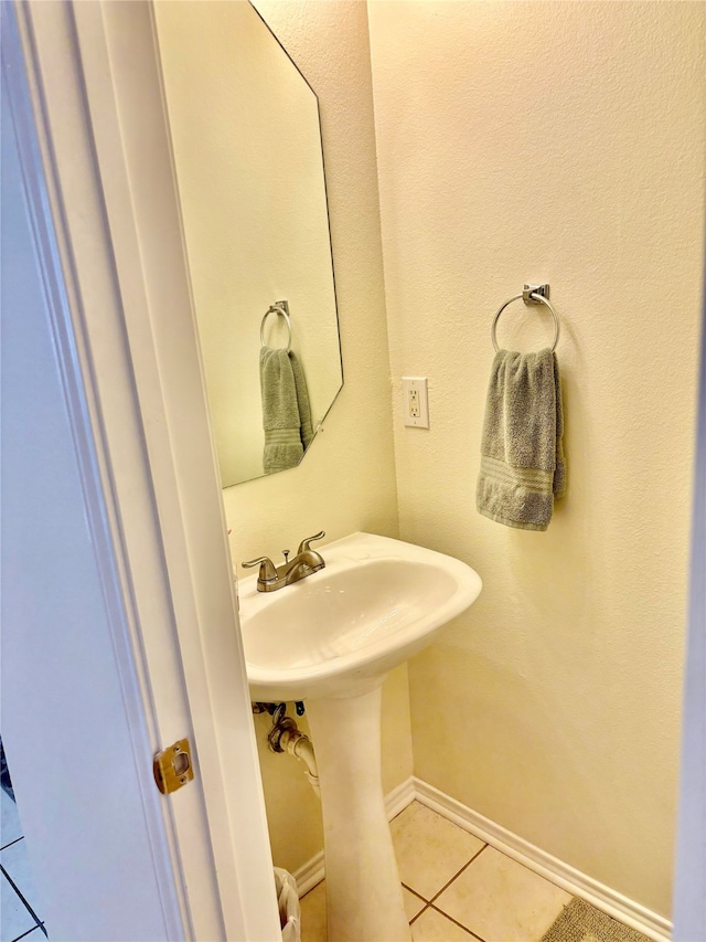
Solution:
M318 548L319 549L319 548ZM319 550L325 569L276 592L239 582L254 700L370 689L478 597L478 573L411 543L353 533Z

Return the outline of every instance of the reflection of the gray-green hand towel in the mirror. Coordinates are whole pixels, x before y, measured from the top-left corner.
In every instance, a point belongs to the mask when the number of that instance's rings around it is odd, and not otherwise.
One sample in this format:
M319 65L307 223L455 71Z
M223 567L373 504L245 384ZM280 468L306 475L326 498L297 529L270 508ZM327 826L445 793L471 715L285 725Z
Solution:
M309 391L295 353L260 348L260 392L265 430L263 469L272 474L293 468L313 438Z

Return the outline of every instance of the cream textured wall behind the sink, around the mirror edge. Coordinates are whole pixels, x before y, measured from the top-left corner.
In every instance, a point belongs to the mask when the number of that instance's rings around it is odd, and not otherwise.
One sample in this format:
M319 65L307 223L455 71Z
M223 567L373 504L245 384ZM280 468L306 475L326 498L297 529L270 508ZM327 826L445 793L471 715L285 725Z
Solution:
M327 540L355 530L398 536L366 7L257 7L321 105L345 383L298 468L224 490L235 562L280 559L321 529ZM383 715L391 790L411 774L406 667L386 684ZM260 743L266 728L258 719ZM318 800L297 760L265 749L260 759L275 862L293 870L321 849Z

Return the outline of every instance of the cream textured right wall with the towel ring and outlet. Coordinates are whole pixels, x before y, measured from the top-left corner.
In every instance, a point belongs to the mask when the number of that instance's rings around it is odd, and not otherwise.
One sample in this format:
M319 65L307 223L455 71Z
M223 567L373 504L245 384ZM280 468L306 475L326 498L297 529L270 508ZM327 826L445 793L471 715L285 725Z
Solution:
M704 3L370 4L400 536L474 565L410 664L415 771L667 913L704 224ZM475 511L490 326L563 318L568 496ZM516 303L505 346L550 337Z

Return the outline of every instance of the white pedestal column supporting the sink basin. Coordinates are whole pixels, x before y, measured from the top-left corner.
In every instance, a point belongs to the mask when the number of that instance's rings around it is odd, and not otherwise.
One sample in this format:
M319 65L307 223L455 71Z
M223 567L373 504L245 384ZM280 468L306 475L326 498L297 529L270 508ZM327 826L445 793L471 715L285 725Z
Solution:
M409 942L381 773L382 680L307 700L323 813L329 942Z

